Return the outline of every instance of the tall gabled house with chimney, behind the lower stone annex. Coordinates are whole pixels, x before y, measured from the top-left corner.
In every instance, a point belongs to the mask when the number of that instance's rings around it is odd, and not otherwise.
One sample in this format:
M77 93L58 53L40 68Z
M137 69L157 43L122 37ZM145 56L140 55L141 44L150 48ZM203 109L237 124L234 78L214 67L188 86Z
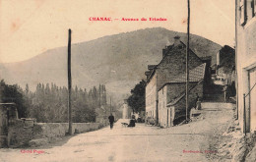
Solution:
M190 50L189 69L195 69L203 61ZM186 70L186 45L180 41L179 36L174 37L174 43L162 49L162 60L158 65L149 65L145 75L146 85L146 116L159 123L159 90L169 81L174 81Z

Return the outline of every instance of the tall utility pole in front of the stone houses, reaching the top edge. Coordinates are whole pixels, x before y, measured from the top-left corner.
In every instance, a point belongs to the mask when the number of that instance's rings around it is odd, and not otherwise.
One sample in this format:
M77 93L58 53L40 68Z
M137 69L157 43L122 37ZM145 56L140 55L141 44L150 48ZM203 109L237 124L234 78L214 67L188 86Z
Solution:
M188 121L188 88L189 88L189 23L190 23L190 0L187 0L187 50L186 50L186 121Z

